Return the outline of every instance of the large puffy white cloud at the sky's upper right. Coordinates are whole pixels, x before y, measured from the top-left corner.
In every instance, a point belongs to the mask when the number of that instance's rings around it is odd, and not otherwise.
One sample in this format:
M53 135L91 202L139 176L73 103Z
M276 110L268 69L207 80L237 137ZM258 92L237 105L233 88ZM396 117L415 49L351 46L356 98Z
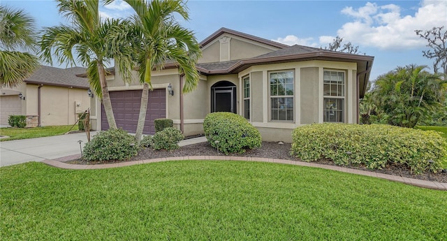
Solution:
M337 31L345 41L381 50L407 50L424 46L416 29L446 25L447 1L423 1L414 15L402 16L400 6L366 3L356 9L346 7L342 13L354 17Z

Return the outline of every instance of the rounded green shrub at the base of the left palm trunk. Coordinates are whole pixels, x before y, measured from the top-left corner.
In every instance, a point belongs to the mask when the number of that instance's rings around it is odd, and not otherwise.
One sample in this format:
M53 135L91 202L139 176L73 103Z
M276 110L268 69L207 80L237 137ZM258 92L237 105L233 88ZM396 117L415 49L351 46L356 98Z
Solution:
M122 161L136 156L135 137L123 129L100 131L85 144L82 158L87 161Z

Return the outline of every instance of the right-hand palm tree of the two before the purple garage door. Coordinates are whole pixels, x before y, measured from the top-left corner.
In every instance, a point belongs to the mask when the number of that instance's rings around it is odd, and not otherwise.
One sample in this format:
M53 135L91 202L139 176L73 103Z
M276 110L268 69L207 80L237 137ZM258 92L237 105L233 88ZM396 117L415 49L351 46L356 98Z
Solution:
M112 0L109 0L109 2ZM161 69L166 62L175 62L180 73L184 73L183 93L191 92L198 84L199 74L196 62L201 56L200 45L192 31L181 27L174 19L177 13L189 20L186 6L179 0L134 1L124 0L135 10L133 16L133 46L136 50L136 64L143 85L140 115L135 132L141 140L145 125L147 100L151 85L151 73Z

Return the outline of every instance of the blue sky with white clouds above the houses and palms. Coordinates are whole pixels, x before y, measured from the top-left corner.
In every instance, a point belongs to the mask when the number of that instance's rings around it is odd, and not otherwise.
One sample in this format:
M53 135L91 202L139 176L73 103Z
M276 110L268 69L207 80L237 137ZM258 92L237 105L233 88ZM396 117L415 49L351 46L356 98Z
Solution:
M0 0L36 20L38 29L68 24L52 0ZM189 1L191 20L182 22L202 41L221 27L288 45L326 46L335 36L374 56L371 80L407 64L432 61L422 56L426 41L414 33L447 25L447 1ZM103 17L128 17L131 8L116 1ZM61 66L65 68L65 66Z

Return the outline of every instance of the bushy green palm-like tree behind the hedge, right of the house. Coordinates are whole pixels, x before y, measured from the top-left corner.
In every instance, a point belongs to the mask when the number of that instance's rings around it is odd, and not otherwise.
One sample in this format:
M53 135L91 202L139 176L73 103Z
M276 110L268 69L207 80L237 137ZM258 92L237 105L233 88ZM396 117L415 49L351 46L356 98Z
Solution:
M388 115L388 124L413 128L442 107L447 81L425 68L397 67L377 78L372 94L377 107Z

